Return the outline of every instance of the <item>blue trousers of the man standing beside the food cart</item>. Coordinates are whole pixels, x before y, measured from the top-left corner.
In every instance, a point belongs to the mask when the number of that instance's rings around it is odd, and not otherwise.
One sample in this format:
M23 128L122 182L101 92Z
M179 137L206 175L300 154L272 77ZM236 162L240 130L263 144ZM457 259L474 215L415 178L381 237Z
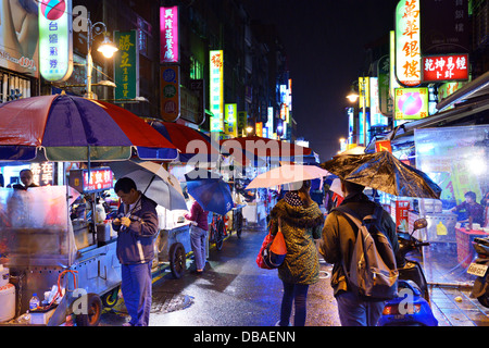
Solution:
M149 324L151 287L151 262L122 264L121 290L133 326Z

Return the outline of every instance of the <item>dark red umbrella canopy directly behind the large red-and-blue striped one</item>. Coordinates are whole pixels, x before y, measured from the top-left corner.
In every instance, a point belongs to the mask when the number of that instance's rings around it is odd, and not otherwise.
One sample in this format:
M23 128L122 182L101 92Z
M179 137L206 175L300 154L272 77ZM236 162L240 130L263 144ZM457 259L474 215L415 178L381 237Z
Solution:
M188 162L193 156L205 156L205 160L212 156L217 159L218 144L211 141L211 137L197 129L183 124L172 122L147 121L154 129L168 139L178 149L179 161Z

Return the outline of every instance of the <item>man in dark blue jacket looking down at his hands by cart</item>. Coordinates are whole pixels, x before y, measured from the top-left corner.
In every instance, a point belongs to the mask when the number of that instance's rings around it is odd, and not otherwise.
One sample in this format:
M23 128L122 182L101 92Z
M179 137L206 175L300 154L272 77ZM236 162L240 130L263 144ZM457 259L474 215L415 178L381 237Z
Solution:
M121 289L130 321L125 326L148 326L151 310L151 264L158 234L156 203L123 177L115 183L122 204L112 226L117 231L117 258L122 264Z

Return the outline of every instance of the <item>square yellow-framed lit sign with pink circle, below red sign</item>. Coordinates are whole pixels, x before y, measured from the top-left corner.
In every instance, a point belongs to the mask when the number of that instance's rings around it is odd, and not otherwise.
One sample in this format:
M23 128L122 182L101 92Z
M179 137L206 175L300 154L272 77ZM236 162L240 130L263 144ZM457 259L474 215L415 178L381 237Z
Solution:
M396 88L396 120L419 120L428 116L428 88Z

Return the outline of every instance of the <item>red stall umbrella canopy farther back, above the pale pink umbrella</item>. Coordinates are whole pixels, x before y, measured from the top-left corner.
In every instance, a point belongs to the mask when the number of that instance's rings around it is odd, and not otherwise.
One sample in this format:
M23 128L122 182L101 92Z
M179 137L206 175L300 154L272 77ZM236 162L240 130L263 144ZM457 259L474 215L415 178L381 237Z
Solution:
M274 159L290 159L292 157L304 157L312 153L310 148L258 136L225 139L221 141L221 147L230 153L234 152L231 152L231 149L240 149L255 157Z

